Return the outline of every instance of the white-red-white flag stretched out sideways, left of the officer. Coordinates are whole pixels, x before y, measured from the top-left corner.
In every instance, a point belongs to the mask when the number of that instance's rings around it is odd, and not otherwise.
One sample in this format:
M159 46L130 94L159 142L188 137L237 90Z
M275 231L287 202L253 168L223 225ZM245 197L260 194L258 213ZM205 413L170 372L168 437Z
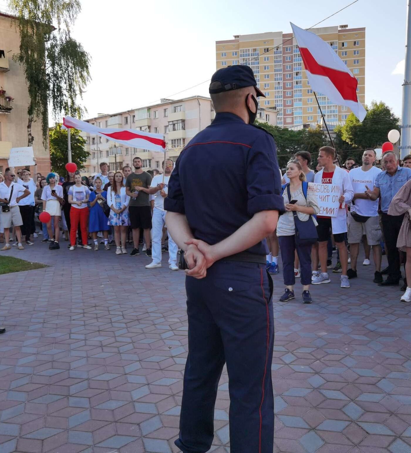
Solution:
M91 135L100 135L130 148L148 149L150 151L165 152L164 135L152 134L141 130L110 129L97 127L85 121L77 120L71 116L63 118L63 128L78 129Z

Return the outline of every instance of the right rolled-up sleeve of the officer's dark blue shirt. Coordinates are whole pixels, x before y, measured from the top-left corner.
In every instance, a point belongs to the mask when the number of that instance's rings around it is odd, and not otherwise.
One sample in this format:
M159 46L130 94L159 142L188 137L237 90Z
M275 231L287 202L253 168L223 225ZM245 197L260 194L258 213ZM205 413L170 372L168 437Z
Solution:
M251 216L260 211L285 211L276 146L271 135L260 135L252 145L247 159L246 181L247 210Z

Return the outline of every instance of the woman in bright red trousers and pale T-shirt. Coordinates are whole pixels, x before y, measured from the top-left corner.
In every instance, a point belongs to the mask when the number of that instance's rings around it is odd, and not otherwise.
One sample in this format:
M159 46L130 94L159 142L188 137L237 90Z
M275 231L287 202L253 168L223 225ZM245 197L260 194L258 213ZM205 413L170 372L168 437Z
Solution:
M68 190L68 202L71 204L70 209L70 250L76 247L76 233L80 222L81 241L84 244L84 249L91 249L87 245L88 233L87 226L89 223L89 208L87 202L90 197L90 190L87 186L81 183L80 174L74 176L74 186L70 186Z

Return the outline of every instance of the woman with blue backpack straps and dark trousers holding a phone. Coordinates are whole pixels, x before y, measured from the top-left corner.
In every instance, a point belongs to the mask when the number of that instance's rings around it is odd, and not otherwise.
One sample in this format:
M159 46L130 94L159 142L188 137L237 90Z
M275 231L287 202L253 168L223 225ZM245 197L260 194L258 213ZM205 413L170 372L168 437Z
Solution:
M279 217L277 224L277 236L281 247L281 258L283 260L283 278L285 292L280 297L281 302L294 299L293 285L295 284L294 258L297 251L300 260L302 302L311 304L310 283L311 283L311 247L312 245L300 245L295 241L295 222L293 212L297 212L298 218L306 222L310 216L317 214L320 210L317 201L317 193L307 190L305 174L300 162L290 160L287 164L287 177L289 183L283 190L285 213ZM304 182L304 190L302 183ZM291 200L288 197L290 189ZM317 221L313 218L314 225Z

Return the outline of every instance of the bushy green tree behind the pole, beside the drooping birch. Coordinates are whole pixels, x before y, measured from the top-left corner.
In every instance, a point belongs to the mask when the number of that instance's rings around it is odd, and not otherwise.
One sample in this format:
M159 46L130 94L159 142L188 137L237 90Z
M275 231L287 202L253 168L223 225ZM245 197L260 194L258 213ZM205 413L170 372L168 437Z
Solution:
M61 129L61 123L50 129L50 160L52 170L60 176L66 174L65 165L67 160L67 130ZM70 130L71 159L77 165L77 169L84 168L84 163L89 153L84 149L85 139L80 135L80 130Z

